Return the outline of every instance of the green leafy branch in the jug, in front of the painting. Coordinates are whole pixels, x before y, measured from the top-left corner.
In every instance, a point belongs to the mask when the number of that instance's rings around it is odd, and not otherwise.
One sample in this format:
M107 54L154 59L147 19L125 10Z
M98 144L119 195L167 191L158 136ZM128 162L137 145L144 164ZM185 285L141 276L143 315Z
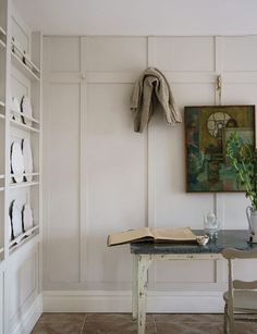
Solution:
M245 186L245 196L253 209L257 210L257 150L234 132L227 141L227 156L235 168L237 178Z

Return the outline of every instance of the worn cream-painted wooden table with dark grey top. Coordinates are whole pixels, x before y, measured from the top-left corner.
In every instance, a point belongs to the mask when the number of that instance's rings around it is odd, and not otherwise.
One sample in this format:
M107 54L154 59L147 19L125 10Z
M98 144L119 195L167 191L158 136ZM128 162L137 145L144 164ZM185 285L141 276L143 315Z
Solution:
M193 231L196 235L203 235L200 230ZM132 313L137 319L137 333L145 333L146 324L146 296L147 271L152 261L159 260L218 260L224 248L233 247L241 250L257 247L249 244L249 233L244 230L219 231L218 239L209 242L206 246L197 244L131 244L133 255L133 286L132 286Z

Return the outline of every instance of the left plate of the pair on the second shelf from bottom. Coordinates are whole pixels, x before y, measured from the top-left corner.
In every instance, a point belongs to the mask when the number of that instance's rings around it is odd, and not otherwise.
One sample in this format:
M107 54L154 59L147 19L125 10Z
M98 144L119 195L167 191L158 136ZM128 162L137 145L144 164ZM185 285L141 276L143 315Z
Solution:
M21 144L13 141L11 145L11 172L16 183L23 182L24 176L24 159Z

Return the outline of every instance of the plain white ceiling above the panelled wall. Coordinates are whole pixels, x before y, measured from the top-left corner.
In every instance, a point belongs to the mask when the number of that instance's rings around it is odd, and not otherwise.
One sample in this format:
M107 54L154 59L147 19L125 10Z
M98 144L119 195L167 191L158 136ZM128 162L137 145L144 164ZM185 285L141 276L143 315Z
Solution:
M13 0L44 35L257 34L256 0Z

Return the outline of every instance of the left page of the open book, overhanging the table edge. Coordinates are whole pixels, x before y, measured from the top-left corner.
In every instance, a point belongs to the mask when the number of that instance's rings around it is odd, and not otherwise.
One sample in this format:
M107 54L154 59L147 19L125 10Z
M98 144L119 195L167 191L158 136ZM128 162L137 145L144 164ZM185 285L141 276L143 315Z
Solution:
M151 231L148 227L142 227L138 230L128 230L109 235L107 245L112 246L112 245L126 244L133 240L138 240L147 237L154 239Z

